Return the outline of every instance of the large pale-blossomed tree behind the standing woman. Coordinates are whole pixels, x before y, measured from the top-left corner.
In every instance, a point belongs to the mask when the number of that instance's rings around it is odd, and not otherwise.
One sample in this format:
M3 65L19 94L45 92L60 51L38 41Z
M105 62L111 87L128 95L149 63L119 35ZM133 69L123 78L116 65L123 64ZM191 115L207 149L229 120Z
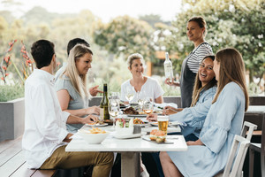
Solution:
M238 49L244 58L246 69L253 76L264 73L265 3L259 0L186 0L189 8L176 16L174 27L166 40L169 50L178 51L184 59L193 50L193 43L186 37L186 21L201 15L208 23L208 41L216 52L224 47ZM181 63L181 62L178 62ZM179 64L178 64L179 65ZM179 67L178 67L179 68ZM178 71L179 72L179 71Z

